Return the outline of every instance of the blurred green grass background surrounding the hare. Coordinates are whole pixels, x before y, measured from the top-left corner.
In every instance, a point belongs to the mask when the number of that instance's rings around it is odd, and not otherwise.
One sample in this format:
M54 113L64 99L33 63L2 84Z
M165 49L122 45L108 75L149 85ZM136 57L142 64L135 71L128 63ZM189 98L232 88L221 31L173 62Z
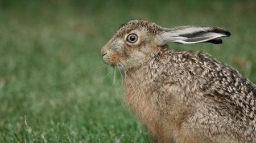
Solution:
M0 142L150 142L100 56L119 25L226 28L221 45L170 47L208 52L256 83L255 15L254 0L0 0Z

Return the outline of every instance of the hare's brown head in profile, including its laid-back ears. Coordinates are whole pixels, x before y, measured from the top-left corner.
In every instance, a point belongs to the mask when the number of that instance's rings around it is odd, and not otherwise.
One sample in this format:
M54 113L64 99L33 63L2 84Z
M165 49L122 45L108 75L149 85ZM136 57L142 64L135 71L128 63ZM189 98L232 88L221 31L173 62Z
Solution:
M142 64L168 42L221 44L220 37L228 36L228 31L218 27L181 26L168 29L150 21L131 20L123 24L102 47L101 55L107 64L131 68Z

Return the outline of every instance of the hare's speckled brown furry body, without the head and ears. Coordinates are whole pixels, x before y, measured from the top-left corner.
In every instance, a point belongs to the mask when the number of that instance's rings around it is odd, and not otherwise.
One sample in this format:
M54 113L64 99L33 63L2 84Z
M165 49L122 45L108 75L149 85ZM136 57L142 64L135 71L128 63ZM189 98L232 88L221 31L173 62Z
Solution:
M253 142L255 85L208 55L161 49L126 76L128 105L161 141Z

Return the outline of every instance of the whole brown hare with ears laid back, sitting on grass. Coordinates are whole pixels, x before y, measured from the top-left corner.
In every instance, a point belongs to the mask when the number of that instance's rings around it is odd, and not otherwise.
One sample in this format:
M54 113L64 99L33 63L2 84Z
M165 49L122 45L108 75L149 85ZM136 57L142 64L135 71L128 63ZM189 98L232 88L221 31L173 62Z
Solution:
M125 102L156 142L256 142L256 85L207 53L168 42L221 44L225 29L123 24L101 50L123 69Z

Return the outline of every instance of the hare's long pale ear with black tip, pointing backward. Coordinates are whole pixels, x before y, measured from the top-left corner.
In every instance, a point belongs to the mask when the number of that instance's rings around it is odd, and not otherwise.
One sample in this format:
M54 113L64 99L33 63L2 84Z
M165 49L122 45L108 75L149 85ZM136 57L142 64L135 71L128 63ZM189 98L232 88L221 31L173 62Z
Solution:
M168 42L180 44L195 44L201 42L211 42L221 44L221 37L230 36L230 32L218 27L208 26L180 26L171 29L163 28L158 34L159 45L166 45Z

